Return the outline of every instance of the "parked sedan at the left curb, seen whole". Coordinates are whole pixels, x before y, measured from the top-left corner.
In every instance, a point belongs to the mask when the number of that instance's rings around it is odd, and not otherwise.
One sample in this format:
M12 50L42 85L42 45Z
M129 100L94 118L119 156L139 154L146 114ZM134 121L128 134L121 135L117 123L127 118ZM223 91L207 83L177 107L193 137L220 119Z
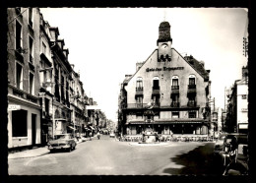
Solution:
M75 150L77 143L73 138L72 134L60 134L55 135L53 141L49 141L48 150L50 152L54 151L69 151Z

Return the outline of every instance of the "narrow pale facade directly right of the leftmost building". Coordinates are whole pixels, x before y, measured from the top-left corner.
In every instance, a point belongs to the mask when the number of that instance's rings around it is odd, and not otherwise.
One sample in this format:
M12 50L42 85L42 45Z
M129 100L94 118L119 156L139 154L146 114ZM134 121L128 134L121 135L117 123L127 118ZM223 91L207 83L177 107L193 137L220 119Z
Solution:
M53 61L51 58L51 44L50 44L50 31L48 22L44 21L42 14L40 14L40 34L39 34L39 47L40 47L40 105L41 105L41 132L42 144L46 144L49 139L53 137L53 98L54 98L54 80L53 80Z

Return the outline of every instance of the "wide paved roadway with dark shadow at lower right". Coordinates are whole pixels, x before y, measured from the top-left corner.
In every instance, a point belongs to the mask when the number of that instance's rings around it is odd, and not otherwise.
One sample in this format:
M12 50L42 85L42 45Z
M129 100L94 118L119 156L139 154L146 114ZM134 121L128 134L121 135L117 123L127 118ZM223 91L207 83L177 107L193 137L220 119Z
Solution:
M214 143L137 146L101 135L73 152L9 159L10 175L216 175Z

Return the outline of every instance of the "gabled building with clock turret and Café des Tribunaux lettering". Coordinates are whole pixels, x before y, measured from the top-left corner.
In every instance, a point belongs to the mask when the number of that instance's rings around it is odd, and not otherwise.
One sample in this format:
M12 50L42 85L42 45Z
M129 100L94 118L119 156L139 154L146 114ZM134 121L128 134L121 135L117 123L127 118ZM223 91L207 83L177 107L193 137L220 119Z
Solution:
M173 47L168 22L160 23L156 49L136 64L121 85L123 134L154 131L162 135L208 135L210 70L193 56L183 57Z

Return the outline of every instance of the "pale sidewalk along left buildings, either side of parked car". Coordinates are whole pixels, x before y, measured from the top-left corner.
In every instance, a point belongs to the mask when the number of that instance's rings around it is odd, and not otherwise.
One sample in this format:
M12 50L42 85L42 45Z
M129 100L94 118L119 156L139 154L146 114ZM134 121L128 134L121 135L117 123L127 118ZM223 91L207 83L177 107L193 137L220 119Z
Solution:
M77 142L77 145L84 142ZM34 148L32 150L27 150L23 152L13 152L8 154L8 159L15 159L15 158L28 158L28 157L34 157L34 156L40 156L44 155L46 153L49 153L48 147L41 147L41 148Z

